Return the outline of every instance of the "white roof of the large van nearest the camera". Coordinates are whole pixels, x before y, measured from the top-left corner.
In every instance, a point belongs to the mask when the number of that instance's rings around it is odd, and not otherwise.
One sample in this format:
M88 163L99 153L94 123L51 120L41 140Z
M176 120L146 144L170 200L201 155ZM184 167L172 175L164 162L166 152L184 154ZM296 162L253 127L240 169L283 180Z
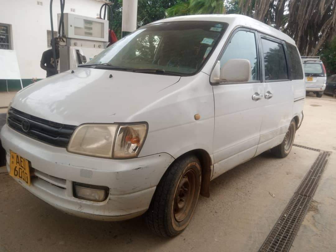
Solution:
M229 26L245 26L252 28L254 30L269 34L281 40L295 45L295 41L286 35L285 33L266 25L252 17L240 15L240 14L203 14L203 15L186 15L186 16L176 16L169 17L167 19L161 19L153 22L152 24L162 23L162 22L177 22L177 21L215 21L215 22L225 22Z

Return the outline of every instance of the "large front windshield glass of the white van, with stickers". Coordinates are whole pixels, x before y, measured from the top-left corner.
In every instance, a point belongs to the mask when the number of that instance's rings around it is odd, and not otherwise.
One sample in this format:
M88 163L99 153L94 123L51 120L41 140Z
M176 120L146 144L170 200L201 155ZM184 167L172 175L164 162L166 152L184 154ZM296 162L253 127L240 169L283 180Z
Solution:
M208 21L144 26L114 43L87 64L108 64L120 70L160 69L163 71L159 73L191 75L203 66L226 28L226 23Z

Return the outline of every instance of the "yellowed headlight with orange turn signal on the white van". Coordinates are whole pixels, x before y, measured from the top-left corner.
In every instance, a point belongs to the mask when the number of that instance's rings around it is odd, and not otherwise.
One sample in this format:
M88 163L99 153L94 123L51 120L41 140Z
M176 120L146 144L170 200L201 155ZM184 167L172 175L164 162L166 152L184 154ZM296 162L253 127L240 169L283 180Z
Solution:
M83 124L72 135L68 151L106 158L131 158L139 154L147 124ZM116 136L117 135L117 136Z

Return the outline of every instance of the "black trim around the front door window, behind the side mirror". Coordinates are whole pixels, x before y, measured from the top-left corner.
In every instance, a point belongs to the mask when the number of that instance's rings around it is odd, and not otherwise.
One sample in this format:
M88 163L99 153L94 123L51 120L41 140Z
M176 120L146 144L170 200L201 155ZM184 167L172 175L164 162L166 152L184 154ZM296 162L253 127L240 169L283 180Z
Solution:
M228 28L228 27L227 27ZM227 29L226 28L226 29ZM211 74L213 72L213 69L215 68L215 65L217 64L218 61L220 61L221 57L223 56L226 48L228 47L229 43L231 42L231 40L233 39L233 37L235 36L235 34L239 31L247 31L247 32L252 32L254 33L254 37L255 37L255 43L256 43L256 49L257 49L257 61L258 61L258 77L259 80L255 80L255 81L247 81L247 82L211 82ZM221 38L223 39L223 37ZM249 27L245 27L245 26L239 26L236 29L234 29L228 39L225 41L224 46L222 47L220 53L218 54L218 57L215 61L215 64L212 67L212 70L210 72L210 84L213 86L218 86L218 85L231 85L231 84L253 84L253 83L261 83L262 82L262 74L261 74L261 55L260 55L260 46L259 46L259 40L258 40L258 32L257 30L251 29Z

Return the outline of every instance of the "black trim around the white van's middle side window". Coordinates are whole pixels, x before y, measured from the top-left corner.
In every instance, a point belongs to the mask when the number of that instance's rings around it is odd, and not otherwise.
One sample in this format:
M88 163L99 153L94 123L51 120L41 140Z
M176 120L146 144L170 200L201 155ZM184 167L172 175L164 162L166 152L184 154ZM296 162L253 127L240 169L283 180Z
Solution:
M263 83L272 83L272 82L285 82L285 81L291 81L291 73L290 73L290 69L289 69L289 64L288 64L288 52L287 52L287 47L286 47L286 41L284 40L280 40L277 39L275 37L272 37L270 35L266 35L264 33L258 32L258 39L259 39L259 44L260 44L260 54L262 55L261 57L261 65L262 65L262 82ZM288 74L288 79L281 79L281 80L266 80L265 78L265 62L264 62L264 51L262 48L262 42L261 39L266 39L278 44L282 44L283 48L284 48L284 53L285 53L285 60L286 60L286 64L287 64L287 74Z

